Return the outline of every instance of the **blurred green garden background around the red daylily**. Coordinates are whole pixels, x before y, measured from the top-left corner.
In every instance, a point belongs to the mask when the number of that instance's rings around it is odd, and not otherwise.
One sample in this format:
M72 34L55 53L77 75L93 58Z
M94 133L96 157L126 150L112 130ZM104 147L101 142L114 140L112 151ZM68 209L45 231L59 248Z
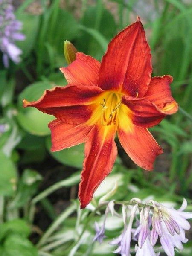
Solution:
M151 47L153 76L173 76L180 109L150 129L164 151L154 171L136 166L116 140L113 171L90 209L80 211L76 198L84 145L50 152L47 123L53 117L23 109L22 99L37 100L44 90L67 84L59 71L67 65L64 40L100 61L108 42L137 15ZM115 181L114 199L153 198L177 208L185 197L186 210L192 211L191 0L1 0L0 255L114 255L108 242L119 235L122 220L108 219L107 239L98 246L92 243L93 224L103 217L88 215ZM191 231L186 237L189 242L178 255L192 255Z

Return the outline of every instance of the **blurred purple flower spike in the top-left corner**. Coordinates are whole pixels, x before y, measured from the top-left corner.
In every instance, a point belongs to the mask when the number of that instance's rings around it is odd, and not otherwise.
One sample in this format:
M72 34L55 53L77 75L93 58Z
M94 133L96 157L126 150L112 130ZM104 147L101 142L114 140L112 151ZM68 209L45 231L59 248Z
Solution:
M20 62L22 53L15 45L15 41L25 39L25 36L18 32L22 23L15 19L11 0L0 1L0 50L3 52L3 64L9 67L9 58L16 64Z

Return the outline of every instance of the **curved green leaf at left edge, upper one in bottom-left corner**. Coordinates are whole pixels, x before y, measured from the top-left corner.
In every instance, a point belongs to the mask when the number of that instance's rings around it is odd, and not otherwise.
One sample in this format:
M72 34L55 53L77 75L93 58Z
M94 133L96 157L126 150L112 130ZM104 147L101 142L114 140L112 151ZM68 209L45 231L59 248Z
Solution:
M18 233L28 237L31 232L29 224L23 219L13 219L0 224L0 240L11 233Z

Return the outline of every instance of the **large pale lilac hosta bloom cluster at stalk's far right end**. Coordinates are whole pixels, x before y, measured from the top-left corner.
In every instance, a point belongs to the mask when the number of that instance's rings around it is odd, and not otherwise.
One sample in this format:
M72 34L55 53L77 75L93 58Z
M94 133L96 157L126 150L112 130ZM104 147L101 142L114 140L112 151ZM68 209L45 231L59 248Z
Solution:
M182 243L188 239L185 237L184 230L190 229L190 224L186 219L192 218L191 212L183 212L187 206L186 199L183 198L183 204L180 209L167 208L156 201L151 201L154 206L152 217L153 228L151 230L151 244L154 246L158 236L163 250L168 256L174 256L174 248L183 250Z

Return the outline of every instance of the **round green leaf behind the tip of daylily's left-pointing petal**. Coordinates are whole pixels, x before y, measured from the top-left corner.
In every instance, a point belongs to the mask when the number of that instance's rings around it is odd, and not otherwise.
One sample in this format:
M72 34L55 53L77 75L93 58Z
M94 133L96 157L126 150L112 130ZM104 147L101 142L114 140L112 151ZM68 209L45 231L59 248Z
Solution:
M55 85L55 84L54 84ZM46 89L51 89L53 84L49 82L37 82L26 87L18 97L18 114L17 121L22 128L30 134L44 136L50 133L48 123L54 117L38 111L36 108L23 108L23 99L34 101L39 99Z

